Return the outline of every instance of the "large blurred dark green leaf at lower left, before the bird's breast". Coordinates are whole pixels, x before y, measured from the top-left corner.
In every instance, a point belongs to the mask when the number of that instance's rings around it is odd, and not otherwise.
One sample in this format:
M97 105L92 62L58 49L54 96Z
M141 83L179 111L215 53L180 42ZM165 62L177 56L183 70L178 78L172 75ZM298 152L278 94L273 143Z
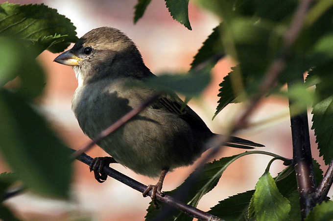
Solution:
M24 185L36 193L68 198L71 182L69 149L47 122L18 95L0 91L1 156Z

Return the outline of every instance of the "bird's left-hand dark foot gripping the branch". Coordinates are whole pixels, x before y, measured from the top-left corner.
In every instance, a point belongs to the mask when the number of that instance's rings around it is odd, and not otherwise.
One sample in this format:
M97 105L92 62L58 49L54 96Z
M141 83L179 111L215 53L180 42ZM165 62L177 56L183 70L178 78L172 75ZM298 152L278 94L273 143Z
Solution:
M116 162L113 157L96 157L89 166L90 172L94 171L96 181L104 182L108 175L104 173L103 166Z

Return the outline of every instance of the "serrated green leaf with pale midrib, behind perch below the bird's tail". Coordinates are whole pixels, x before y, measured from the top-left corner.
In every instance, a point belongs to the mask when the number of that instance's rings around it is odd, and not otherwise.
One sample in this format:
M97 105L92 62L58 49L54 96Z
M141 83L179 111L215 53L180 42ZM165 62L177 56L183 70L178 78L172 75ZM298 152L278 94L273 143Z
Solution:
M186 202L187 204L190 204L191 206L196 207L199 200L204 196L206 193L211 191L219 181L220 177L222 176L223 172L227 168L228 165L230 165L231 162L235 161L239 158L238 155L234 155L231 157L225 157L221 158L218 161L213 161L210 163L205 164L203 167L199 178L196 180L196 183L192 188L189 190L187 189L187 195L185 199L182 199L182 201ZM192 180L192 177L194 176L196 172L194 171L190 176L182 183L180 186L178 186L176 189L172 191L167 191L166 194L170 196L177 197L179 196L179 190L183 190L183 186L187 186L188 182ZM162 204L162 207L165 206ZM161 210L156 210L152 204L147 209L147 214L145 216L145 221L151 221L154 220L159 214ZM188 215L185 213L177 211L176 213L170 215L170 218L166 219L166 221L184 221L184 220L192 220Z

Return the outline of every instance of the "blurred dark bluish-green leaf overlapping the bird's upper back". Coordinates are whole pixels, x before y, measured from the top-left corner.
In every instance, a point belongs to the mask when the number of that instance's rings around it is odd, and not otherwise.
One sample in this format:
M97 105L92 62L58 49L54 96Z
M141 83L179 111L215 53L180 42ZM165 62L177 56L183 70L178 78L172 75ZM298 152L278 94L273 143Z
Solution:
M145 80L149 87L163 93L180 93L188 97L199 96L211 81L210 67L188 74L162 74Z

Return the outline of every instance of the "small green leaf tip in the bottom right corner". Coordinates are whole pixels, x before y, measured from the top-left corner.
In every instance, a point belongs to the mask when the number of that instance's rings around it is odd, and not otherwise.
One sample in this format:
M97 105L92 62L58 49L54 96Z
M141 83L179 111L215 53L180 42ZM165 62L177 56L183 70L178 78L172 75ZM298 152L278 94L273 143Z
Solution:
M332 221L333 220L333 201L324 201L317 204L305 221Z

